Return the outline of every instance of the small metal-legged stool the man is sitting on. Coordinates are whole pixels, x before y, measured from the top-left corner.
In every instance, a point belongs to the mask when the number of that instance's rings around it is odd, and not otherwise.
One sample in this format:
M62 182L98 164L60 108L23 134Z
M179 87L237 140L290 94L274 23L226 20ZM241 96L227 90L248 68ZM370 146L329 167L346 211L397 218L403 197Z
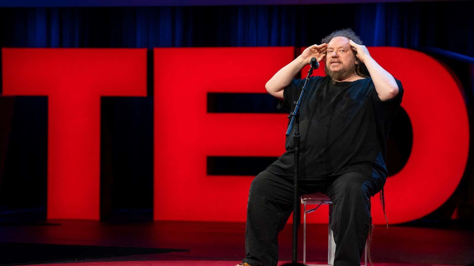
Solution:
M303 218L303 264L306 264L306 214L316 211L322 204L329 205L329 234L328 234L328 264L308 264L307 266L331 266L334 265L334 256L336 253L336 242L334 242L334 235L331 230L331 215L332 215L332 201L328 196L322 193L308 194L301 196L301 204L304 206ZM306 204L317 204L316 208L306 211ZM365 242L365 264L367 266L367 242Z

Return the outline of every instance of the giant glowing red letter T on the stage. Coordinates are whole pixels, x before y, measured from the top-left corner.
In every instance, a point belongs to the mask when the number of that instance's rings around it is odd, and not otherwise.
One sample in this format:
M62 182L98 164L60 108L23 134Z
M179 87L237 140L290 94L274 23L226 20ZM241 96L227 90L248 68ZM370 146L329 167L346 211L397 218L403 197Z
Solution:
M48 219L99 220L100 97L146 96L146 49L2 49L3 95L48 96Z

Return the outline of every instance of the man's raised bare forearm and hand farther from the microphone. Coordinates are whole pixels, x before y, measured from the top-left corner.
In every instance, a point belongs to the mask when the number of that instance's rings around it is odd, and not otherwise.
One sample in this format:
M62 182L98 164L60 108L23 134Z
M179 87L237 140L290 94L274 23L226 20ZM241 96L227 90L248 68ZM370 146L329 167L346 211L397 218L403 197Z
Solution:
M398 85L395 82L395 79L389 72L384 70L377 62L375 62L365 45L356 44L352 40L349 40L349 45L351 45L352 49L357 52L357 58L364 62L367 67L370 77L372 78L372 81L374 81L375 90L377 91L379 98L382 101L388 101L397 96Z

